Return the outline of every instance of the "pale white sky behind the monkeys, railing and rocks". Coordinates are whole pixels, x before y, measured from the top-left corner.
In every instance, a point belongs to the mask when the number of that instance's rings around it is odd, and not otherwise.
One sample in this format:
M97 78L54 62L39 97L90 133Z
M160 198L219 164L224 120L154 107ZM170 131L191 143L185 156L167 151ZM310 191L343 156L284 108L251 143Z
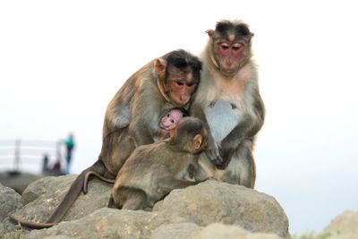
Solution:
M356 9L342 0L1 1L0 140L73 132L80 173L97 159L107 103L132 73L176 48L197 54L216 21L241 19L255 33L267 107L256 189L285 209L291 233L318 232L358 209Z

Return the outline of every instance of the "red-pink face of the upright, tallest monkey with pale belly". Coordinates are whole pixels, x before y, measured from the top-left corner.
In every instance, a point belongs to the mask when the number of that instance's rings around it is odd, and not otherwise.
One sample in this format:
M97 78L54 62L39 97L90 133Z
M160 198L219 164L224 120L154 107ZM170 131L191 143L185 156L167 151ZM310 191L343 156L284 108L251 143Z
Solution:
M242 41L219 40L216 43L217 64L225 75L237 73L245 45Z

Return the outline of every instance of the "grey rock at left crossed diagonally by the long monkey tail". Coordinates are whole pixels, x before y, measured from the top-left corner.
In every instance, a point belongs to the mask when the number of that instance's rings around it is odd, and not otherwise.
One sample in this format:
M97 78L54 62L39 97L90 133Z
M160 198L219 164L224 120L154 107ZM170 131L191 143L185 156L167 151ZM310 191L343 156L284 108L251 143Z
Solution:
M22 218L45 222L64 198L76 175L48 176L30 184L22 193L26 205L16 215ZM73 203L63 220L74 220L89 215L96 209L107 206L111 185L91 180L89 192Z

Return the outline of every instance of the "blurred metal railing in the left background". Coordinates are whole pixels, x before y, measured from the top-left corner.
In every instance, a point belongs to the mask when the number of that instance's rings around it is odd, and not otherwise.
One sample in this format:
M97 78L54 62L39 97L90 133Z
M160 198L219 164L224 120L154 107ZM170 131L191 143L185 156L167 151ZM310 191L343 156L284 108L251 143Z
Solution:
M61 160L62 141L38 140L0 140L0 166L9 167L13 171L22 171L23 165L42 165L45 155L47 158Z

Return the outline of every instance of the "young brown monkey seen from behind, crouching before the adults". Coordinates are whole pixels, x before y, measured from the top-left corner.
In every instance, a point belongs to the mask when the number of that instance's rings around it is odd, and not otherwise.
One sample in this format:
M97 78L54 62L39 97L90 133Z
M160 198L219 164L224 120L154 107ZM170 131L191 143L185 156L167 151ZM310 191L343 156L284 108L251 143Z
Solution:
M185 177L195 174L196 154L206 146L206 139L200 119L184 117L170 139L134 149L115 179L108 207L152 207L172 190L198 184Z

